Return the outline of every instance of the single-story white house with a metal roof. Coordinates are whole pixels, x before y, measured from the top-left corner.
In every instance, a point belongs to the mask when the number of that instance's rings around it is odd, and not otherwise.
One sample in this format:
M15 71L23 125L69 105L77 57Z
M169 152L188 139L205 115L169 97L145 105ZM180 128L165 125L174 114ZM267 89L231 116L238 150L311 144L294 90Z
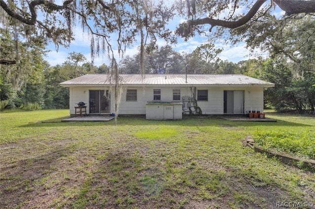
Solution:
M147 119L182 119L183 114L246 114L262 111L263 90L274 84L244 75L121 74L119 115ZM69 87L70 116L83 102L87 114L114 113L110 75L88 74L61 83ZM194 109L197 102L198 109Z

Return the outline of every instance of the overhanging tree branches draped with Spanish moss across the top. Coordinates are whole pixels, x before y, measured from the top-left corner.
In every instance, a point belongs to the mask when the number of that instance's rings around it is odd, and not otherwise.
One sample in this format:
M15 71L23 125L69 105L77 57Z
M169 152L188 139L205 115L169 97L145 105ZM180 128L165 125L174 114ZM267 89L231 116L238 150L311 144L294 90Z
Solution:
M275 5L286 15L315 12L315 0L64 0L60 4L55 0L0 0L0 19L2 26L22 28L24 38L41 37L57 48L69 45L80 23L90 34L92 57L106 52L114 58L113 41L122 53L140 39L143 62L143 53L155 47L157 37L176 42L177 36L189 38L196 31L203 32L203 26L211 31L215 26L251 25L269 15ZM167 24L175 16L186 22L172 31ZM14 64L9 61L1 57L2 64Z

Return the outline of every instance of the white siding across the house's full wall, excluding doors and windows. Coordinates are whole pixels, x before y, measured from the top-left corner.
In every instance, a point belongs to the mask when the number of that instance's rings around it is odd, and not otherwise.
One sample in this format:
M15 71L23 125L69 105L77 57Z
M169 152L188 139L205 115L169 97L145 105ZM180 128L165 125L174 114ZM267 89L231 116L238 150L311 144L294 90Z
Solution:
M104 90L99 87L70 87L70 115L75 114L74 106L84 102L87 105L89 114L89 90ZM108 89L108 88L107 88ZM126 89L137 89L137 101L126 101ZM191 96L190 87L127 87L124 88L119 106L119 114L138 115L146 114L146 103L153 101L153 90L161 89L162 102L173 101L173 89L181 90L183 96ZM223 114L223 92L224 90L243 90L244 91L244 113L263 110L263 88L262 87L196 87L196 90L208 90L208 101L198 101L198 106L203 114ZM197 91L196 91L197 92ZM197 98L197 94L195 95ZM111 94L110 111L114 112L114 93Z

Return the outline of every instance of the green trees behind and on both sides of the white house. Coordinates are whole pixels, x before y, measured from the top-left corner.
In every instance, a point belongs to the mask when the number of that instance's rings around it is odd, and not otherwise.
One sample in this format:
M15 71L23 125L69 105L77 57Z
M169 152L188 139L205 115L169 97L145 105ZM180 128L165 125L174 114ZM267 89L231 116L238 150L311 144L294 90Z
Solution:
M233 63L218 58L222 49L210 42L189 54L170 46L156 47L145 54L146 73L161 74L244 74L276 84L265 91L268 106L277 110L295 109L299 113L314 112L315 105L315 20L314 16L295 17L279 23L268 17L259 27L247 28L250 49L260 48L269 58ZM275 25L284 24L275 29ZM237 35L244 28L236 28ZM69 54L62 65L49 66L44 60L45 44L40 38L32 42L16 39L16 31L0 28L0 58L15 58L16 64L0 65L1 108L68 108L68 89L59 83L88 73L108 73L106 65L94 66L77 52ZM126 56L119 63L120 73L140 73L140 52Z

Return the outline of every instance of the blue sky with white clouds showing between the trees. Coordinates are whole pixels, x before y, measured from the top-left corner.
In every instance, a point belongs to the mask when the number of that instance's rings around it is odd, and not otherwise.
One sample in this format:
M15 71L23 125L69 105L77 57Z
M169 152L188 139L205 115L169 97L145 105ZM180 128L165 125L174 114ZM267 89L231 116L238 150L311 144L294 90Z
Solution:
M239 9L239 11L237 11L238 13L244 13L247 11L243 11L242 8ZM277 12L277 13L276 13ZM279 9L276 9L275 14L276 15L281 15L282 13L280 12ZM222 14L225 15L225 14ZM170 28L175 28L176 26L178 26L179 22L182 21L180 19L176 19L174 20L172 23L170 23ZM80 25L80 24L78 24ZM50 63L51 66L56 66L56 65L61 65L65 60L66 57L69 55L70 52L80 52L82 54L85 55L85 57L87 58L88 61L91 61L91 50L90 50L90 39L89 36L87 35L87 33L84 33L82 31L81 27L76 27L74 28L75 32L75 41L73 41L70 44L69 48L64 48L62 46L59 47L58 52L56 51L56 47L54 44L49 44L48 46L48 50L50 50L50 52L47 53L47 56L45 57L45 59ZM190 38L187 42L185 42L183 39L179 38L178 39L178 43L175 45L171 45L173 50L177 51L177 52L186 52L186 53L190 53L192 52L194 49L196 49L196 47L200 46L201 44L206 43L207 38L206 37L202 37L202 36L198 36L196 35L193 38ZM112 42L112 46L114 46L114 51L115 49L115 43ZM165 42L164 40L158 40L158 46L165 46L167 45L167 42ZM129 48L126 49L125 52L125 56L129 55L129 56L133 56L134 54L138 53L138 46L139 43L134 43L134 46L131 46ZM223 48L223 51L221 52L221 54L219 55L219 58L221 58L221 60L228 60L228 61L232 61L232 62L239 62L241 60L247 60L250 57L250 52L248 49L245 48L245 43L241 42L236 46L230 46L230 45L226 45L224 44L224 41L220 41L218 40L215 43L215 46L217 48ZM257 51L258 52L258 51ZM117 50L115 51L115 57L116 59L119 61L120 60L120 56L118 55ZM253 56L251 56L251 58L253 58ZM100 66L102 64L107 64L109 65L110 60L108 60L107 55L101 55L99 57L95 57L94 59L94 65L95 66Z

